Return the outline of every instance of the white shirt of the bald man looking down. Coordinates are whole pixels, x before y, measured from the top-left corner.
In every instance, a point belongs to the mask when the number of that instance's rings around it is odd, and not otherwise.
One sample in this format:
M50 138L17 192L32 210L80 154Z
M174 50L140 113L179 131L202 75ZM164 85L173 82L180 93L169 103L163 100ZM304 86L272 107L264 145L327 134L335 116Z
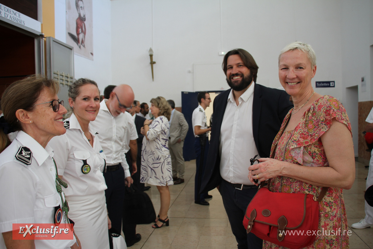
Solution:
M126 130L127 118L124 113L114 117L107 109L107 99L100 103L100 111L94 121L90 122L93 129L98 132L97 137L106 156L107 165L122 164L125 177L131 176L126 161ZM79 237L79 236L78 236Z

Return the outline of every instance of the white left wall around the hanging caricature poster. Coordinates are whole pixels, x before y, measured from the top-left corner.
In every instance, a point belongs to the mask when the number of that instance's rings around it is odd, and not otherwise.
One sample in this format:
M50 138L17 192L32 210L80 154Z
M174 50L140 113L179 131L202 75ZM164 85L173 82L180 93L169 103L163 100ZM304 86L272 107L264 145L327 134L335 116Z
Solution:
M93 1L93 60L74 55L75 78L90 78L101 92L112 84L111 1ZM66 2L54 0L55 38L66 43Z

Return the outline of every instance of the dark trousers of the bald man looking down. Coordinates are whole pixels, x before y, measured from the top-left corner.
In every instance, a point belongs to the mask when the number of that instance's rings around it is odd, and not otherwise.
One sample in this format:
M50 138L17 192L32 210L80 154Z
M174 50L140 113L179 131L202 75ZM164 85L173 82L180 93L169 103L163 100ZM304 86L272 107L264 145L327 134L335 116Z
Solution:
M116 231L122 228L123 201L125 193L124 169L119 165L116 171L104 172L107 189L105 190L107 212Z

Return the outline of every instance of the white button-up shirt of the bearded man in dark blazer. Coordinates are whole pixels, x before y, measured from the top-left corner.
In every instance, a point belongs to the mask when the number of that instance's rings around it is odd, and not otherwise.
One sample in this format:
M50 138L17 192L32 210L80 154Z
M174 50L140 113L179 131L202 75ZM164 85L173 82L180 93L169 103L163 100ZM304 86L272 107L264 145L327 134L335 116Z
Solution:
M253 136L254 82L239 97L236 105L233 90L220 128L220 175L230 183L253 185L247 178L250 159L258 155ZM260 156L257 156L260 158Z

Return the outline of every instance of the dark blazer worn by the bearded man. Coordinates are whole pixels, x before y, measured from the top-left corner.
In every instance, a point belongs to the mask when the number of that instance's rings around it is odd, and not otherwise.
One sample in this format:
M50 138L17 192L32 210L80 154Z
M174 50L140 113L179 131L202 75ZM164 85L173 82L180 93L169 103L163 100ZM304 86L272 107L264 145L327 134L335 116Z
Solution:
M230 91L231 89L223 91L214 99L210 148L201 184L201 193L206 193L216 188L222 181L219 155L220 128ZM261 158L269 157L273 139L291 108L293 108L293 105L285 91L259 84L254 85L253 136ZM242 166L248 167L249 165L250 162L247 162L247 165Z

